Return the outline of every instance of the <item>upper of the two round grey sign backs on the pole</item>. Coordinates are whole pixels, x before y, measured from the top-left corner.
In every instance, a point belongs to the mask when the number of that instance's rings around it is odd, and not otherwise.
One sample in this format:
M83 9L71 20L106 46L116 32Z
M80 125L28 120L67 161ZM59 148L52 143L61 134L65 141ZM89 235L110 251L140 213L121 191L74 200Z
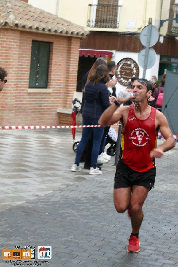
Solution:
M148 35L148 27L150 25L147 25L143 28L143 30L140 33L140 42L143 46L147 46L147 35ZM149 47L155 45L159 38L159 32L157 28L153 25L151 25L151 34L150 34L150 44Z

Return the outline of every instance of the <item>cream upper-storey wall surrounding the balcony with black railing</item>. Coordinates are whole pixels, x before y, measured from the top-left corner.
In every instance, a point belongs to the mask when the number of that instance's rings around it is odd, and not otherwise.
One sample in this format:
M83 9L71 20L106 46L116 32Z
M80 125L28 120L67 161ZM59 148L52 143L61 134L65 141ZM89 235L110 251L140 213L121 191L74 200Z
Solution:
M163 1L162 19L167 18L169 1ZM45 10L46 12L58 15L61 18L87 26L88 5L97 4L98 0L28 0L28 4ZM103 1L104 3L104 1ZM149 17L152 18L152 25L159 26L161 0L118 0L121 4L119 16L119 29L109 28L88 28L91 31L133 31L140 32L148 24ZM129 22L135 22L135 26L128 27ZM166 34L168 23L164 23L161 34ZM126 26L127 25L127 26Z

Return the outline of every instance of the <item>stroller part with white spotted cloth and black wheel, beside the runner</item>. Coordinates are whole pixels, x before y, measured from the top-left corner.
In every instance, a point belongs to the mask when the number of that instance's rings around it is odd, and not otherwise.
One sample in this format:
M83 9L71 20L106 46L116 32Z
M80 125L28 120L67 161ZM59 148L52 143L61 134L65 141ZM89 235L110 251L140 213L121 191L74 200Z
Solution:
M118 134L115 131L115 129L110 127L109 132L108 132L107 137L106 137L106 143L105 143L105 146L109 143L111 144L111 146L106 151L107 154L110 156L115 156L115 154L116 154L117 136L118 136Z

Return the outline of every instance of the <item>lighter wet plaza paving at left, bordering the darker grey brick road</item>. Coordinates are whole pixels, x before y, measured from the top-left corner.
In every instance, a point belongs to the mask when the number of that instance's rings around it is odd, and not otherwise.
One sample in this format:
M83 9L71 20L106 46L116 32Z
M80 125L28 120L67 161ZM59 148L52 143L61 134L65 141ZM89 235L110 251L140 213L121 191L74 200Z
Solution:
M0 211L87 179L88 171L70 172L71 129L1 130L0 136ZM75 140L80 136L76 131Z

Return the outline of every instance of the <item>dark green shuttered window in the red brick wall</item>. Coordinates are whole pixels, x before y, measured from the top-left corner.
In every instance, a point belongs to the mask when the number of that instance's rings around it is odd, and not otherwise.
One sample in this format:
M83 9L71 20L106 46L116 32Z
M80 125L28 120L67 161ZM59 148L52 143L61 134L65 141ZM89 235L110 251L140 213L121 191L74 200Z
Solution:
M47 88L50 43L32 41L29 88Z

